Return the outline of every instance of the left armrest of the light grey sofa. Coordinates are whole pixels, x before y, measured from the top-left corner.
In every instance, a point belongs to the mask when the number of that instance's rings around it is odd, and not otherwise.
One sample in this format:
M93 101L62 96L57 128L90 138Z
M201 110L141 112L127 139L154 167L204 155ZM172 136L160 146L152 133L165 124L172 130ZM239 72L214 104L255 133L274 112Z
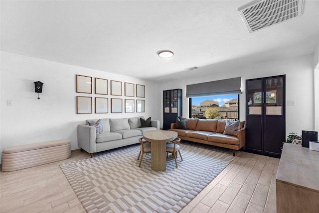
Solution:
M96 152L96 129L94 126L78 125L78 147L88 153Z

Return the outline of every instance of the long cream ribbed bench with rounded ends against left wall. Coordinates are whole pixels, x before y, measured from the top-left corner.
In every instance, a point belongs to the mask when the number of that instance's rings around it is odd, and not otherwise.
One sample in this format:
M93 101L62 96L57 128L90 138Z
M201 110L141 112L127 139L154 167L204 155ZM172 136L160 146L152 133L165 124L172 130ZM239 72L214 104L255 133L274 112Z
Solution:
M70 140L53 140L2 150L2 171L12 172L71 157Z

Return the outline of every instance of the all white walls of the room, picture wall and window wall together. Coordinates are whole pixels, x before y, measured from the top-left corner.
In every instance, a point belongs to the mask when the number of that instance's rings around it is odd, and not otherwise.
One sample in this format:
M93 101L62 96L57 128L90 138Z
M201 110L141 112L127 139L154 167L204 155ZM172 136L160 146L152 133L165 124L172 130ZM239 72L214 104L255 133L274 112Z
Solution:
M207 66L200 69L209 70L210 67ZM146 112L76 114L76 96L86 96L86 94L76 93L75 80L77 74L108 79L109 83L110 80L116 80L145 85ZM242 77L239 116L241 120L245 120L245 80L283 74L286 74L286 100L295 100L296 102L296 106L287 106L286 101L286 134L289 132L301 134L302 130L314 130L314 81L319 81L318 70L317 74L315 71L314 75L314 55L272 61L259 65L247 65L236 70L227 70L227 67L225 67L209 76L180 78L178 81L174 80L160 84L1 52L1 152L3 148L9 146L55 139L70 139L71 149L77 149L77 124L83 123L88 118L143 115L146 118L152 116L152 119L158 119L162 124L163 90L180 88L185 94L186 85L188 84L239 76ZM314 80L314 76L317 80ZM33 82L35 81L44 83L40 100L37 100L37 94L34 93ZM318 87L317 92L319 94ZM110 95L92 94L91 96L93 98L109 98L110 104ZM122 99L125 98L124 96L122 97ZM7 100L12 100L13 106L6 106ZM319 105L317 104L316 106L318 107ZM188 115L188 99L186 99L185 95L183 95L183 115ZM316 116L318 117L318 114Z

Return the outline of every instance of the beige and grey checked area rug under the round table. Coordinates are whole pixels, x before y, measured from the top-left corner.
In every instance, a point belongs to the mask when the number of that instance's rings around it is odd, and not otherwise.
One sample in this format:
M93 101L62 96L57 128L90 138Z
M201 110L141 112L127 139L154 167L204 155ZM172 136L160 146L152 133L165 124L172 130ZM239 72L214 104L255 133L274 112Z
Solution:
M114 149L60 168L88 213L174 213L185 207L235 157L232 150L182 141L175 167L151 170L151 156L137 160L140 145Z

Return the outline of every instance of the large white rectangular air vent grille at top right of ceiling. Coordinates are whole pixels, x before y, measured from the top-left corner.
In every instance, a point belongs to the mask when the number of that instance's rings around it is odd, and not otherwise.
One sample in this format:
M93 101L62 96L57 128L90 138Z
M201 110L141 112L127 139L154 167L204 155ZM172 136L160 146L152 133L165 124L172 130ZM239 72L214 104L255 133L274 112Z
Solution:
M302 15L303 0L255 0L238 8L250 33Z

